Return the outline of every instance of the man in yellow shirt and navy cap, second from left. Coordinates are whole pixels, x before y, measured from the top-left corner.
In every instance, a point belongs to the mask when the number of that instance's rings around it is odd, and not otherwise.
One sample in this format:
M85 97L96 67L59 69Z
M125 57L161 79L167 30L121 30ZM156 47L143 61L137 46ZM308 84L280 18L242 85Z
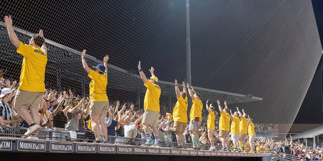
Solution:
M103 64L98 64L95 67L95 71L90 69L85 61L86 50L82 52L82 64L85 71L88 73L88 77L92 79L89 85L90 91L90 117L92 131L95 135L94 142L98 143L100 140L100 130L103 134L102 143L107 143L107 128L105 125L105 116L107 109L109 109L109 99L106 96L107 86L107 65L109 56L103 57Z

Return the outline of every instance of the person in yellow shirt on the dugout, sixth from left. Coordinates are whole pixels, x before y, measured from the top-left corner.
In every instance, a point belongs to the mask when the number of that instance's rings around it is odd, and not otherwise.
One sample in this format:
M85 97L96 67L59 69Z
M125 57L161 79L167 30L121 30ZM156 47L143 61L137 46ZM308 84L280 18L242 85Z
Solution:
M216 121L216 117L218 115L218 112L214 109L212 104L208 106L208 100L206 101L206 110L208 112L207 116L207 136L209 139L209 142L211 144L211 147L209 150L216 150L216 146L214 146L214 137L213 133L216 129L216 124L214 123Z

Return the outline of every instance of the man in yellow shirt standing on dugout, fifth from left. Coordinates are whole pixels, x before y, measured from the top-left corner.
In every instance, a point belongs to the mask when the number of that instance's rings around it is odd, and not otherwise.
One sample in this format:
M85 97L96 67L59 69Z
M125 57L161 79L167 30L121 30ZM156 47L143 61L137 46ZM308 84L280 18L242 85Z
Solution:
M196 93L193 87L190 88L190 85L187 84L187 89L193 103L190 111L190 123L188 125L188 131L191 133L193 143L192 148L201 149L198 128L201 126L203 103L201 101L201 95Z

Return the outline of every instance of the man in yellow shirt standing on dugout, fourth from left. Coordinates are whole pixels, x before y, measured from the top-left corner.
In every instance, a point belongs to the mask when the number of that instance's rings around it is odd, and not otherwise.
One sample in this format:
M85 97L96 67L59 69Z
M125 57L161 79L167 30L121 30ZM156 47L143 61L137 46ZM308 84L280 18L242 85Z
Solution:
M185 83L183 82L183 92L180 92L180 89L177 86L177 79L175 79L175 92L177 97L177 102L173 110L173 119L174 119L174 129L177 139L177 148L185 147L185 128L187 126L187 92L185 88Z

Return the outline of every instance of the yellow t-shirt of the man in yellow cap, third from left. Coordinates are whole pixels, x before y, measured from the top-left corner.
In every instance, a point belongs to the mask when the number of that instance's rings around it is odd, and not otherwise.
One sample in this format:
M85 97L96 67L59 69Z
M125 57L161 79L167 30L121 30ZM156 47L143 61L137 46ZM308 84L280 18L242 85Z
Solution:
M143 84L146 88L146 95L143 102L143 110L150 110L150 111L160 111L159 107L159 98L161 94L161 89L157 84L153 84L149 81L147 81L145 84Z

